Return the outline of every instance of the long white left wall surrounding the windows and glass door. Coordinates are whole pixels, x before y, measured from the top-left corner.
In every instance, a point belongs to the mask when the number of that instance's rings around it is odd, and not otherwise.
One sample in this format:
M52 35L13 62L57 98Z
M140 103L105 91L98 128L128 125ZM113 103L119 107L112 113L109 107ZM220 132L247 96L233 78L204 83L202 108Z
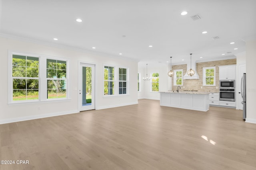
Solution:
M69 80L70 80L70 100L58 102L40 102L35 104L8 105L8 51L24 53L34 53L38 55L48 55L54 57L68 58ZM138 62L118 57L108 57L102 54L77 51L64 47L53 47L40 43L0 37L0 71L1 79L1 98L0 98L0 124L40 117L49 117L78 112L78 61L96 64L96 109L108 107L124 106L138 103L137 92L137 73ZM129 68L129 92L127 96L103 96L103 64L114 64Z

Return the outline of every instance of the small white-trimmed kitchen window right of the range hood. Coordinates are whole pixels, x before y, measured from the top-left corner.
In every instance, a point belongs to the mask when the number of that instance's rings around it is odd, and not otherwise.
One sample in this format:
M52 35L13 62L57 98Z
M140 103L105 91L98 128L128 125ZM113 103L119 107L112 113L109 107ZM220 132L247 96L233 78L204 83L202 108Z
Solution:
M203 67L203 86L215 86L216 67Z

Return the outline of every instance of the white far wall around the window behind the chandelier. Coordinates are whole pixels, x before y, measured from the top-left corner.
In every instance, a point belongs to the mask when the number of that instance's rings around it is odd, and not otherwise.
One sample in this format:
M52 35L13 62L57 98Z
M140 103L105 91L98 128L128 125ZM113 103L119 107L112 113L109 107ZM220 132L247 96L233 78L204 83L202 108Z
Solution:
M160 93L158 92L150 92L151 83L150 81L142 80L142 77L146 76L146 64L138 63L138 70L141 72L141 92L138 92L139 99L152 99L152 100L160 100ZM167 91L170 90L170 77L167 75L169 71L168 63L152 63L148 64L148 76L150 76L153 72L159 72L159 91Z

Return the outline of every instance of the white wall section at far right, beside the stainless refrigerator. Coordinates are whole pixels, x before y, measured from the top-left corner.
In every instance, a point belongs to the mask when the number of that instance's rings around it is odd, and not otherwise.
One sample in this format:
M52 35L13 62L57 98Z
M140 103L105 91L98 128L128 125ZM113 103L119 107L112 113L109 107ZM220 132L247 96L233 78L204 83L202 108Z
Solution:
M246 122L256 123L256 40L246 41Z

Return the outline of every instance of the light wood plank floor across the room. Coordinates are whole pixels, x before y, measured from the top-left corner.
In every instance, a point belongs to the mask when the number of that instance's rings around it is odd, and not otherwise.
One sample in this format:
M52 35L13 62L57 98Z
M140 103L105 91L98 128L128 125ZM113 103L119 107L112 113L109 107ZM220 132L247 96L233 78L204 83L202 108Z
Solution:
M139 100L3 124L0 133L0 160L29 160L0 170L256 170L256 124L236 109Z

